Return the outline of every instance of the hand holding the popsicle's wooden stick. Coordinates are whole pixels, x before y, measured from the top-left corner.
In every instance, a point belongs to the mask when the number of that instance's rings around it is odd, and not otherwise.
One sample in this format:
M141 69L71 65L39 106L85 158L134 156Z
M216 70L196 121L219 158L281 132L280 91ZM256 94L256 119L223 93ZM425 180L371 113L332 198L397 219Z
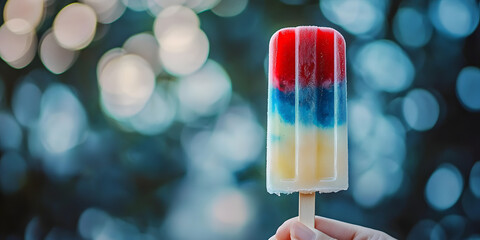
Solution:
M269 240L390 240L394 239L386 233L353 225L333 219L315 217L315 229L311 229L298 221L298 217L285 221L277 233Z

